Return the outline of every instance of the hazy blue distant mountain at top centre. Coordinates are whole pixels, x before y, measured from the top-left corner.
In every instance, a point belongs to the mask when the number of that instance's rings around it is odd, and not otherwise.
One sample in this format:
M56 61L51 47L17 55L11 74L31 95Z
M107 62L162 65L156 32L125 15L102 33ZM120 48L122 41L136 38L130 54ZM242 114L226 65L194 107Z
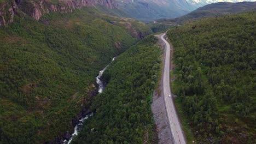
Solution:
M118 8L142 21L182 16L195 7L185 0L117 0Z

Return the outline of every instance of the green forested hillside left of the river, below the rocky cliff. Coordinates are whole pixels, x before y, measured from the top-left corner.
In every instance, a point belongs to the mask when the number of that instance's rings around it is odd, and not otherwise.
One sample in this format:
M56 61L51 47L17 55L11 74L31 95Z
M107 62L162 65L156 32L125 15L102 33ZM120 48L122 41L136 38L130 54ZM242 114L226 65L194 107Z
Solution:
M0 143L44 143L73 131L98 70L150 33L96 7L39 21L15 15L0 27Z

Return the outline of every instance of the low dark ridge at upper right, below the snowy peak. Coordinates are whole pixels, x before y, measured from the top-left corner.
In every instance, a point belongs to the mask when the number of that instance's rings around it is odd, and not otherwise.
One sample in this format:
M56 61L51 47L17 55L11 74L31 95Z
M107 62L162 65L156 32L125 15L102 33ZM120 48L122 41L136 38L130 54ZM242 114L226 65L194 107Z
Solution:
M204 17L213 17L221 15L229 15L236 13L243 13L246 11L256 10L256 2L240 2L240 3L228 3L219 2L205 5L198 8L186 15L175 19L161 19L157 22L167 25L180 25L183 22L191 21L195 19L201 19Z

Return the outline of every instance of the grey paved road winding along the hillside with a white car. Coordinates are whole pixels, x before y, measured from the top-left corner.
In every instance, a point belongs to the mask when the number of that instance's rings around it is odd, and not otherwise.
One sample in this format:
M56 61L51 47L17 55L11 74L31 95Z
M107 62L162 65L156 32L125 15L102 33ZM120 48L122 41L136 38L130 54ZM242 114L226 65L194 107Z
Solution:
M173 98L171 95L170 88L170 45L165 40L165 33L160 34L160 41L164 42L165 45L165 63L164 63L164 73L162 76L162 93L164 94L165 99L165 107L167 111L168 123L171 128L171 133L173 137L173 142L176 144L186 143L185 137L182 131L181 124L179 123L179 119L177 116L177 112L173 103Z

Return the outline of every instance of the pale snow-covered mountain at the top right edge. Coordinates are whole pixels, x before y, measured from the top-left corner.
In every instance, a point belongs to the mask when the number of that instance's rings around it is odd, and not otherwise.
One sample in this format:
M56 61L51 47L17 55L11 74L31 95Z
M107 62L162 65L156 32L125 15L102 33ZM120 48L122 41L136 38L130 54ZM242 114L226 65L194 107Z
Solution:
M207 4L218 3L218 2L238 3L238 2L255 2L255 0L187 0L187 2L199 8Z

